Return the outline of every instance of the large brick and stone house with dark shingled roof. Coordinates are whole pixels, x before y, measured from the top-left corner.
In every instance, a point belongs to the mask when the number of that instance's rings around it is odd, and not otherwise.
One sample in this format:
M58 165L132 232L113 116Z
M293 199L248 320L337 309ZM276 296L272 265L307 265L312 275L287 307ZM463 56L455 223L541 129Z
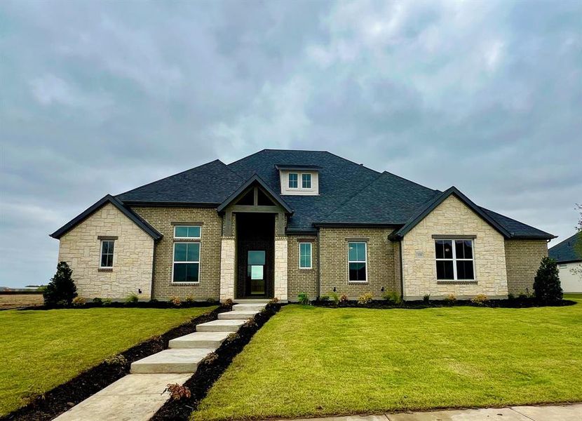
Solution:
M330 152L265 149L116 196L51 234L86 298L532 291L553 235Z

